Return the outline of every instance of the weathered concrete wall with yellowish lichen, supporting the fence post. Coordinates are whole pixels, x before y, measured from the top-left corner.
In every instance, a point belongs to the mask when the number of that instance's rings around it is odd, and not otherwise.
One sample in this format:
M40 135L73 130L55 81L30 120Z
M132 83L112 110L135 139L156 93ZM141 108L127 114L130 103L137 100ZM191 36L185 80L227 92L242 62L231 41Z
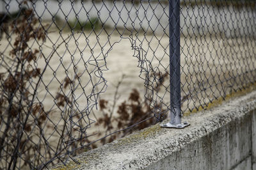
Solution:
M183 118L181 130L159 125L76 157L68 169L256 169L256 91ZM59 167L63 168L63 166Z

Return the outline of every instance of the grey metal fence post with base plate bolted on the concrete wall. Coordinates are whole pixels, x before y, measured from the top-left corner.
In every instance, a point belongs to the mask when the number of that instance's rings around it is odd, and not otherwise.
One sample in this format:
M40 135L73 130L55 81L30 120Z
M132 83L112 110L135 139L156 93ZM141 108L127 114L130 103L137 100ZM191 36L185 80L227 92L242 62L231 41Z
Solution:
M170 123L161 127L184 128L180 114L180 0L169 0Z

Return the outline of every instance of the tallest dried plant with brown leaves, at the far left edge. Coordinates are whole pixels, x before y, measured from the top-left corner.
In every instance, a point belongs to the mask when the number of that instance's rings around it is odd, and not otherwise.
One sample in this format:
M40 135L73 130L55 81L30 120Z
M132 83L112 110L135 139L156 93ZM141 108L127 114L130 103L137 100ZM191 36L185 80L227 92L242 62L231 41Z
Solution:
M22 166L33 169L31 165L42 163L40 151L45 144L43 141L35 144L35 141L40 135L44 136L43 125L51 112L45 111L42 103L35 102L42 70L32 63L42 52L31 49L29 42L45 41L44 27L37 23L33 10L22 8L19 18L9 24L15 35L10 57L1 54L1 66L6 72L0 73L0 155L1 167L6 165L8 169Z

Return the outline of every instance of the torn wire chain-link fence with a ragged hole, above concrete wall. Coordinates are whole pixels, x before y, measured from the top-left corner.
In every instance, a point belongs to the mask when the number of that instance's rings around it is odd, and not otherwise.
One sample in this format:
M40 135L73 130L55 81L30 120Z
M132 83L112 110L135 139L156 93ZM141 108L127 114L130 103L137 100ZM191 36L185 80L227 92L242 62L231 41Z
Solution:
M255 4L0 1L0 169L65 164L252 86Z

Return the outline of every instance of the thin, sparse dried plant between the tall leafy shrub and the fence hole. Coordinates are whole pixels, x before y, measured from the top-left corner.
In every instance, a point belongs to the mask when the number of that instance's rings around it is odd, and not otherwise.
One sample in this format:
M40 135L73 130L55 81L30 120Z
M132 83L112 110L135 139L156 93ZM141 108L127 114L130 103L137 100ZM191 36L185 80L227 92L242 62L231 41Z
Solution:
M84 149L90 150L90 148L86 146L87 143L90 143L90 141L88 141L88 137L90 137L91 135L86 134L86 127L88 127L89 125L85 123L83 114L76 111L76 109L74 108L75 100L72 95L70 93L69 95L65 94L65 91L68 93L70 89L74 88L77 85L80 77L80 73L77 73L73 77L65 77L62 83L63 88L59 89L61 93L58 92L55 97L57 102L56 104L58 105L58 107L61 108L61 111L63 111L61 114L63 125L58 128L58 132L61 132L61 136L58 136L58 144L55 153L63 153L63 151L65 151L63 150L64 148L71 148L72 153L70 155L77 155L83 152ZM68 128L68 126L72 126L72 124L74 125L74 127ZM85 130L79 129L81 127L83 127ZM77 136L78 138L74 139L74 136ZM60 146L65 147L61 148Z

